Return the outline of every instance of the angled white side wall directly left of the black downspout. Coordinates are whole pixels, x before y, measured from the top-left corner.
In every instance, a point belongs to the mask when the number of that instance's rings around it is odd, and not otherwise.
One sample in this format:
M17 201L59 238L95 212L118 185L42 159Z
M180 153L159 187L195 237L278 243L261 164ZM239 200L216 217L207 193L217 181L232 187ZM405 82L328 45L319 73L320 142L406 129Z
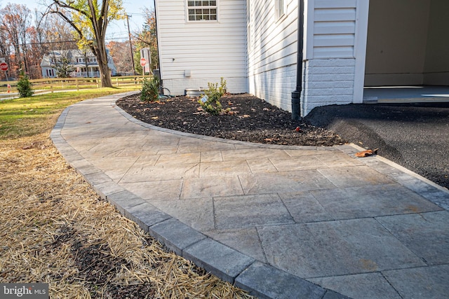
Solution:
M251 1L248 76L250 93L282 109L291 110L297 62L297 0L283 0L281 22L278 1Z

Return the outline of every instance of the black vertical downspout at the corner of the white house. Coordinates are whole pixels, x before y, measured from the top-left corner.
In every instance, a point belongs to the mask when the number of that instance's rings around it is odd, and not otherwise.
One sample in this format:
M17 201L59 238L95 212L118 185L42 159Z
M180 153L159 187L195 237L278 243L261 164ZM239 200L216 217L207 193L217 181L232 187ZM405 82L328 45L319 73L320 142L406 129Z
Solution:
M296 89L292 92L292 120L301 118L301 92L302 92L302 48L304 46L304 0L299 1L297 15L297 67L296 67Z

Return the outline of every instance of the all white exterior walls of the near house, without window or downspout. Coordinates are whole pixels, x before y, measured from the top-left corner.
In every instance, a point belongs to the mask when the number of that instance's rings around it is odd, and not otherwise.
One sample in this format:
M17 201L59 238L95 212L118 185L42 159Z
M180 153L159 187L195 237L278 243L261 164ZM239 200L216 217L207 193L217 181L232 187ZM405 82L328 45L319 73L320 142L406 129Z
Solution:
M156 1L164 87L177 95L224 77L229 92L291 111L300 0L217 0L214 22L189 20L188 2ZM362 101L367 26L367 0L304 0L302 116Z

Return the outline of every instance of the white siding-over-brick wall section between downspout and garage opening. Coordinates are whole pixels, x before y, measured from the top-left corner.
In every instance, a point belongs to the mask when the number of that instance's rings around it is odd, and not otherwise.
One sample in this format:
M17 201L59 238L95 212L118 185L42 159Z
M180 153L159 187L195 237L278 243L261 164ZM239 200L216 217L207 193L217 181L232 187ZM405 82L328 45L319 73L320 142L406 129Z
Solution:
M301 113L317 106L361 103L368 1L306 0Z

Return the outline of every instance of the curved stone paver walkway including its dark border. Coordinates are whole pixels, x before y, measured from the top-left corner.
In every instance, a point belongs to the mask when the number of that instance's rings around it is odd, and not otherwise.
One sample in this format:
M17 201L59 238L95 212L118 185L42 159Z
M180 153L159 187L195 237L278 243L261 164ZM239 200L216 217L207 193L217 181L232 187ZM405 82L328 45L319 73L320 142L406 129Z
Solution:
M135 120L121 95L51 138L102 197L260 298L447 298L449 193L354 146L269 146Z

